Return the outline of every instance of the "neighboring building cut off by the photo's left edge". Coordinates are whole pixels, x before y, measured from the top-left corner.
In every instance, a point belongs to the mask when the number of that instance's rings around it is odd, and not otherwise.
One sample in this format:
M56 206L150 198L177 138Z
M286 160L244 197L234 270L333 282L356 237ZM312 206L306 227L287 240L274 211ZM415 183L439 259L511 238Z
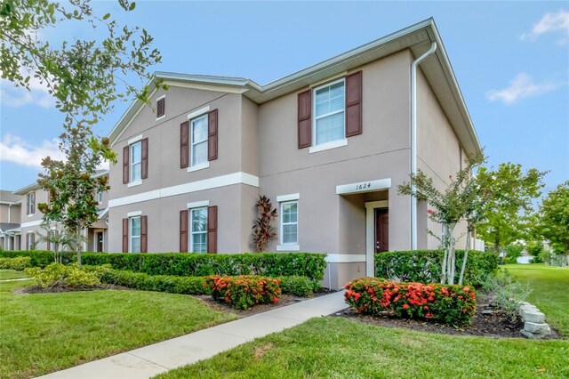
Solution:
M0 247L4 250L20 249L20 207L19 196L0 189Z

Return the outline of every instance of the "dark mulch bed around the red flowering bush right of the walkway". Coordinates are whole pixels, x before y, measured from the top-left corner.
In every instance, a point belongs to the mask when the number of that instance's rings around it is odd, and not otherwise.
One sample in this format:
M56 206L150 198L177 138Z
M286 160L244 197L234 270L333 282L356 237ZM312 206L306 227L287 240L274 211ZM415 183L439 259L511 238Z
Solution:
M524 328L521 319L512 322L509 317L490 305L490 298L486 295L479 295L477 298L477 310L472 320L472 324L467 327L452 327L439 324L433 321L416 319L398 319L394 315L385 314L382 316L368 316L356 313L354 310L342 310L335 314L336 317L357 319L366 324L379 327L404 327L405 329L420 332L438 333L443 335L479 335L491 338L525 338L520 333ZM544 340L560 339L561 336L555 330L551 330L551 335L543 338Z

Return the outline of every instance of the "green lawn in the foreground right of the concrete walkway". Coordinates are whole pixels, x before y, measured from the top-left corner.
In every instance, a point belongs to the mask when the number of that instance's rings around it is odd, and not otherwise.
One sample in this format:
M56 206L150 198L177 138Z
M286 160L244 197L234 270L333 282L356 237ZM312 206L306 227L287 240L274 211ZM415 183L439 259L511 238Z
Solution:
M569 342L435 335L342 318L304 324L181 367L177 378L569 376Z

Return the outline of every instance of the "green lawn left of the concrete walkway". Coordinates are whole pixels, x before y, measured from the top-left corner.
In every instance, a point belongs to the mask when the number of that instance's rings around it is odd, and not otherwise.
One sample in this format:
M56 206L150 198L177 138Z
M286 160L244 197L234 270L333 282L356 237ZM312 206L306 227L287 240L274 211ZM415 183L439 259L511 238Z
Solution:
M46 374L235 319L183 294L12 294L0 282L0 377Z

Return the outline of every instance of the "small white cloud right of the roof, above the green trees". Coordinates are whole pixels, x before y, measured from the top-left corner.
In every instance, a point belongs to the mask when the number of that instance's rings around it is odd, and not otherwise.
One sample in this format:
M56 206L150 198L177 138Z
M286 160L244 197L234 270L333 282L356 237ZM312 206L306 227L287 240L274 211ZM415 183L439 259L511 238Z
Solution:
M532 77L525 72L517 74L510 82L509 86L501 90L491 90L486 93L489 101L502 101L504 104L513 104L526 97L538 96L556 90L566 82L541 82L534 83Z

